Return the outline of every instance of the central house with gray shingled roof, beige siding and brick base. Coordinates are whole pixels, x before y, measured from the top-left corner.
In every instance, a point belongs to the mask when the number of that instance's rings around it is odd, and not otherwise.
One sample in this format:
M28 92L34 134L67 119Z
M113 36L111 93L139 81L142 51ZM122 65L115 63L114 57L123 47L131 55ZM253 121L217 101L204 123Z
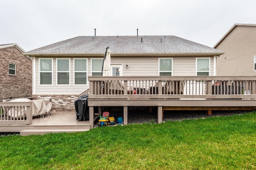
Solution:
M54 110L74 110L88 76L101 75L107 46L113 76L216 75L223 54L176 36L79 36L25 53L33 57L33 97L51 97Z

